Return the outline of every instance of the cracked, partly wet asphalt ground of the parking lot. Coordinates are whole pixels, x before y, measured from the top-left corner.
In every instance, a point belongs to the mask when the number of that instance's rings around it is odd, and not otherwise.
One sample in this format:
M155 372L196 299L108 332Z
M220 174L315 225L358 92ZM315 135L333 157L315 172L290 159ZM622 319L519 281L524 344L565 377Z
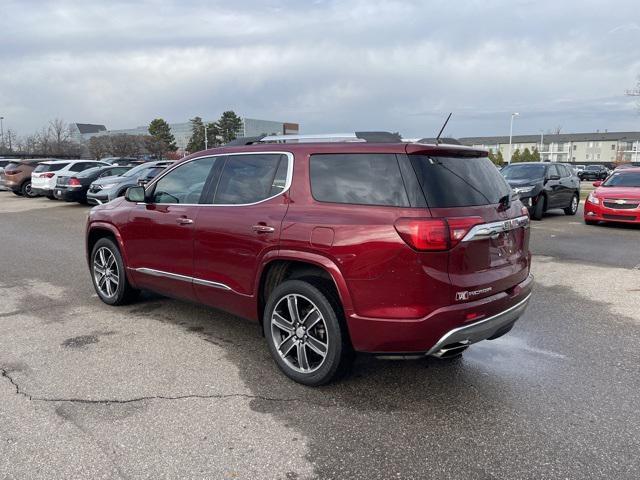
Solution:
M102 304L87 211L0 192L2 479L640 477L638 228L551 213L509 335L311 389L247 321Z

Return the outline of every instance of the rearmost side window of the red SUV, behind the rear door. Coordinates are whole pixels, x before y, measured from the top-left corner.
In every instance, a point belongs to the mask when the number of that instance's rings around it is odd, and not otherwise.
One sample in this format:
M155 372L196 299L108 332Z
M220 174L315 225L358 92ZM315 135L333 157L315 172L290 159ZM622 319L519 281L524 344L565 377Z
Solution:
M320 202L408 207L395 154L312 155L311 192Z

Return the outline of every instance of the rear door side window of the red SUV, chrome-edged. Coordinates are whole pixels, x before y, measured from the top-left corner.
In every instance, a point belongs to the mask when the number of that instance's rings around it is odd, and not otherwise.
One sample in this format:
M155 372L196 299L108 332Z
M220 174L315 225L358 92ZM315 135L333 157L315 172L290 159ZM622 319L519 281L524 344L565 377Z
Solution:
M214 204L256 203L281 193L289 161L279 153L230 155L218 180Z

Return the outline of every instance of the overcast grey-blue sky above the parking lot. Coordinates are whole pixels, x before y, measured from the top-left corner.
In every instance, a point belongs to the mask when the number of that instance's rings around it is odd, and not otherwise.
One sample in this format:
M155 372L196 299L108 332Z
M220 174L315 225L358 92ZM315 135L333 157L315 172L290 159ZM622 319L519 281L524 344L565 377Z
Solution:
M638 0L0 0L0 116L109 129L239 115L303 132L640 130Z

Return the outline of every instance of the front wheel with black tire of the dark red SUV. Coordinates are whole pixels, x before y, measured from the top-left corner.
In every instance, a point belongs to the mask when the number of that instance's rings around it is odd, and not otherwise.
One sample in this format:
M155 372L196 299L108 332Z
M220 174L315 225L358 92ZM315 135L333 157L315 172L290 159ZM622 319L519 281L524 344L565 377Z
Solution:
M114 263L110 262L110 257L107 257L109 261L102 261L104 257L100 256L100 252L103 252L104 255L109 252L113 256ZM104 264L110 265L107 268L110 272L107 274L108 278L105 278L99 270ZM114 266L117 267L117 270L114 270ZM107 269L103 270L106 272ZM89 270L91 271L93 288L95 288L100 300L107 305L126 305L135 300L140 293L139 290L129 284L120 249L110 238L101 238L94 245L91 251ZM117 284L115 284L115 281L117 281Z

